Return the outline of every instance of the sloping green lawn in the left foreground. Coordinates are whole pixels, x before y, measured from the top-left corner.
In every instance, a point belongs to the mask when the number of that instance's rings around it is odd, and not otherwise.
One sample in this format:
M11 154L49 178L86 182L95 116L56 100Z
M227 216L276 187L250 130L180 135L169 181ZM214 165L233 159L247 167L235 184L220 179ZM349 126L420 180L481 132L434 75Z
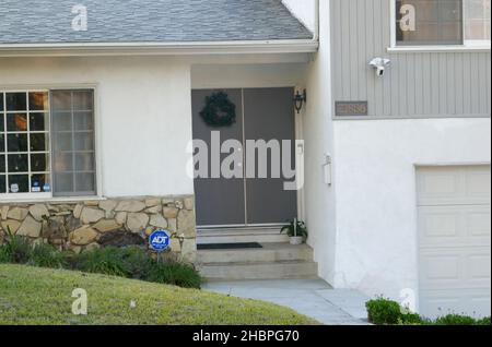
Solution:
M72 290L87 292L87 315L71 312ZM136 301L136 308L130 302ZM267 302L120 277L0 264L0 324L309 325Z

